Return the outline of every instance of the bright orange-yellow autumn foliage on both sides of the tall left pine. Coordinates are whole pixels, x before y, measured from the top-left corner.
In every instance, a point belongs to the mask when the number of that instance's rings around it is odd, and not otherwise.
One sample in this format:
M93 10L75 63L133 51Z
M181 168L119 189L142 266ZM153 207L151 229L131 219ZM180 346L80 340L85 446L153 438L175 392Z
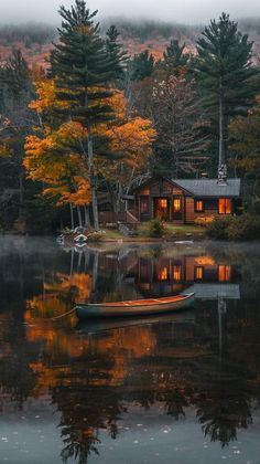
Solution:
M34 134L26 137L24 167L30 179L44 182L43 193L55 198L56 204L90 203L88 167L86 164L87 129L82 123L68 120L58 125L56 110L67 107L67 102L56 98L56 84L46 77L37 82L39 98L31 102L41 122ZM96 124L95 137L109 140L107 149L118 152L124 169L140 169L148 162L151 144L156 133L151 122L128 113L123 93L115 91L107 102L115 118L107 124ZM106 176L119 176L118 162L102 158L96 161L96 171ZM122 182L126 179L121 179Z

